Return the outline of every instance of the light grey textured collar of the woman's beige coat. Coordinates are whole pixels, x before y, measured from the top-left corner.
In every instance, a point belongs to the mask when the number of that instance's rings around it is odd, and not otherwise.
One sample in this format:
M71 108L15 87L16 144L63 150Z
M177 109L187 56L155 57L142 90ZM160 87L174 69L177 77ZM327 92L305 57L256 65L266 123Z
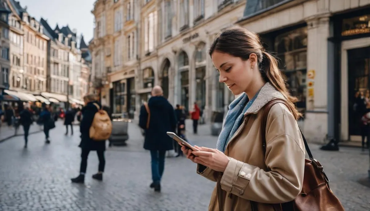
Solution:
M267 82L265 85L262 86L261 90L259 91L257 98L253 102L253 104L248 108L248 110L244 113L245 115L258 113L259 110L265 106L268 102L272 101L273 99L282 99L286 100L284 95L277 91L275 87Z

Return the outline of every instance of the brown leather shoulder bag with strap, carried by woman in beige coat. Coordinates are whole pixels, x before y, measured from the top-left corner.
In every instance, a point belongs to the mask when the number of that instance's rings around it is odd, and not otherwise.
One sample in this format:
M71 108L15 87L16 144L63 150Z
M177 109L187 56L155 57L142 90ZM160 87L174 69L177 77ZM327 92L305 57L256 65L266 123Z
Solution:
M266 154L266 122L270 109L276 103L283 103L289 108L288 104L280 99L270 101L265 105L262 119L262 146ZM329 187L329 179L323 171L323 166L313 158L311 150L307 144L302 130L299 129L305 148L310 159L305 159L305 174L303 176L303 187L301 193L295 200L273 204L275 211L344 211L339 199L334 195ZM258 211L257 203L251 201L252 211Z

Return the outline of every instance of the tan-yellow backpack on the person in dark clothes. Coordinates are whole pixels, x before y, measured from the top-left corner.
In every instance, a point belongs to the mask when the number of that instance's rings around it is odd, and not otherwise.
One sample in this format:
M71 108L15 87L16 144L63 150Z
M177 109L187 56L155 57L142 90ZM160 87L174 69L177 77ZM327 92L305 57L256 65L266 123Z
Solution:
M98 108L98 112L92 120L89 136L94 141L105 141L111 136L112 122L105 110L101 109L97 103L94 105Z

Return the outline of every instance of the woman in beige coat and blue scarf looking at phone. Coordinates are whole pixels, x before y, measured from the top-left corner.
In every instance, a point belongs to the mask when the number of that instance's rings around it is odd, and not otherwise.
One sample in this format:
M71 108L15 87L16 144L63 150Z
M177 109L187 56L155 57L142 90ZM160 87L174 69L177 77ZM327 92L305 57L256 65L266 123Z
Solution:
M229 106L217 149L181 150L198 164L198 174L217 182L208 210L251 211L254 201L259 211L273 211L272 203L292 201L302 189L305 147L296 122L301 116L293 104L297 99L287 91L276 59L263 49L258 35L244 28L223 31L209 55L220 72L219 82L240 96ZM283 99L289 108L272 106L265 155L262 114L272 99Z

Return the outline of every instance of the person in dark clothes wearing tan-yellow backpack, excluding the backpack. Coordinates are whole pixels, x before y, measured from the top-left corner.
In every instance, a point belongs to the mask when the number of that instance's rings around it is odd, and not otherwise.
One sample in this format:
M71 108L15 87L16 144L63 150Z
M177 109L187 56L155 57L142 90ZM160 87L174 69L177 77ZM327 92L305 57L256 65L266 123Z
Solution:
M80 174L71 178L73 183L84 183L85 182L85 173L87 169L87 158L90 151L96 151L99 159L98 173L92 175L92 178L95 180L102 181L103 173L105 167L105 140L104 141L95 141L90 138L89 131L94 120L95 113L101 108L100 103L97 101L95 95L86 95L84 96L85 107L81 110L82 119L80 123L80 132L81 132L81 142L78 145L81 148L81 164L80 164Z

